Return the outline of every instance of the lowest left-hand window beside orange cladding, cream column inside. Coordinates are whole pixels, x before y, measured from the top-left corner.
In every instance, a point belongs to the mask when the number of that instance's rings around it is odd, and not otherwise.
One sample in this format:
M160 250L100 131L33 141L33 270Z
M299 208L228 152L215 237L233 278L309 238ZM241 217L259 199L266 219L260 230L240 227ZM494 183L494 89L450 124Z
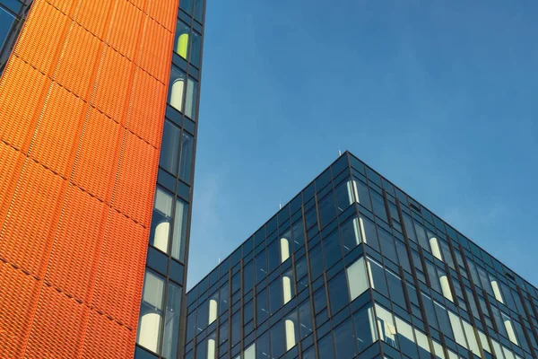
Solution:
M160 354L163 297L164 279L146 270L136 343L157 354Z

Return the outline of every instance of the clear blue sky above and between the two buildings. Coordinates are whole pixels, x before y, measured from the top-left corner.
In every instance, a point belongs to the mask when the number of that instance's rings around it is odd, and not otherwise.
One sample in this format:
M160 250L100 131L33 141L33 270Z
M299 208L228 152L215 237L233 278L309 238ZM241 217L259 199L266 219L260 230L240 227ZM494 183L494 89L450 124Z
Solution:
M187 287L338 150L538 285L538 3L207 3Z

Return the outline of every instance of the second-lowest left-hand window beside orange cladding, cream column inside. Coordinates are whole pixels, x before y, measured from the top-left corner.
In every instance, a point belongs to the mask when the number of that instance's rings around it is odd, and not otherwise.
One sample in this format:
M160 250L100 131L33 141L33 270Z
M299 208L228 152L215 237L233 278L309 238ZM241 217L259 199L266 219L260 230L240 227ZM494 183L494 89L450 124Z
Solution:
M150 244L165 253L169 251L169 232L174 197L161 188L155 191Z

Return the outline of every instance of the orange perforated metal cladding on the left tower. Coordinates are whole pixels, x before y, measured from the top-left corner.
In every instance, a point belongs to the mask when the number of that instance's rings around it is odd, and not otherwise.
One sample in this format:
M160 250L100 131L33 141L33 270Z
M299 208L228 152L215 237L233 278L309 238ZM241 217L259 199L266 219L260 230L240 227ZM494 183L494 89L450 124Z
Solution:
M178 0L35 0L0 79L0 358L132 358Z

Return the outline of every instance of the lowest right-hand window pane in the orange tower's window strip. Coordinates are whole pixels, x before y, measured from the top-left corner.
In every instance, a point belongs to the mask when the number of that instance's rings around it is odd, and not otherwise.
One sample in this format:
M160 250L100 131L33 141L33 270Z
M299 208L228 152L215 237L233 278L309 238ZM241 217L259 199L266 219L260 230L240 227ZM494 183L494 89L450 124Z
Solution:
M166 316L162 356L173 359L178 356L179 312L181 311L181 287L169 283L166 294Z

